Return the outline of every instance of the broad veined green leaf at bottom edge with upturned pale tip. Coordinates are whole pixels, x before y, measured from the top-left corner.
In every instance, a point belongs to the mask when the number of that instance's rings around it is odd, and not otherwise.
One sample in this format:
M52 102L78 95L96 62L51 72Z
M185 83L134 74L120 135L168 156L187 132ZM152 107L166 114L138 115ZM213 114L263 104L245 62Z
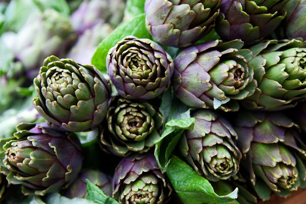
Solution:
M238 197L238 188L228 195L217 195L205 177L200 176L189 165L174 155L171 157L167 169L167 176L183 203L227 204L232 203Z

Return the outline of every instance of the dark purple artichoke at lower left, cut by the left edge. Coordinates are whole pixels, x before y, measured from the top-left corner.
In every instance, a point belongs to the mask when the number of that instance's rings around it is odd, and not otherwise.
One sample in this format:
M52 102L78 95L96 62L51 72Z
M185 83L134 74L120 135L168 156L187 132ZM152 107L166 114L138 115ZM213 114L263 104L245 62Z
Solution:
M67 188L82 167L77 136L59 132L46 123L20 123L14 137L0 140L1 172L11 184L21 184L24 195L45 195Z

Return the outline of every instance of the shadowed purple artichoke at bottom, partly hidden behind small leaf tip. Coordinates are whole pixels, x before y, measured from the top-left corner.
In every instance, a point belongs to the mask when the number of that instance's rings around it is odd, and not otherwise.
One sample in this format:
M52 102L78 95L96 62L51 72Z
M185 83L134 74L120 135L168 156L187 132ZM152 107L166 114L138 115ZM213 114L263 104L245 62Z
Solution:
M86 198L86 180L89 180L92 184L101 189L107 196L112 196L112 183L111 177L97 170L82 171L78 179L71 184L71 186L65 192L65 196L68 198Z

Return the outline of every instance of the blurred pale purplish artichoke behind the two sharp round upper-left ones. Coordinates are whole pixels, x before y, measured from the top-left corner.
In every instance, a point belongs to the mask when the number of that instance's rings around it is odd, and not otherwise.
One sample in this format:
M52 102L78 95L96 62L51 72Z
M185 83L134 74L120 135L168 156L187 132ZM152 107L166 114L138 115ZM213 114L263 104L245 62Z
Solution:
M107 23L98 23L92 29L86 30L73 45L67 54L67 58L80 64L91 64L91 58L98 44L113 32L113 28Z

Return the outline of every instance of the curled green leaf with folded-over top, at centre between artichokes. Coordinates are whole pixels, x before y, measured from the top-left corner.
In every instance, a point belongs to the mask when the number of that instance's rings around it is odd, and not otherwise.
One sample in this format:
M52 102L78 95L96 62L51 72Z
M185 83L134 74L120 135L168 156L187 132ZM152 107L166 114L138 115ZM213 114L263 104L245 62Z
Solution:
M167 171L169 158L177 143L180 141L184 130L193 130L195 118L182 120L170 120L166 123L166 130L161 138L155 143L155 158L162 172Z

